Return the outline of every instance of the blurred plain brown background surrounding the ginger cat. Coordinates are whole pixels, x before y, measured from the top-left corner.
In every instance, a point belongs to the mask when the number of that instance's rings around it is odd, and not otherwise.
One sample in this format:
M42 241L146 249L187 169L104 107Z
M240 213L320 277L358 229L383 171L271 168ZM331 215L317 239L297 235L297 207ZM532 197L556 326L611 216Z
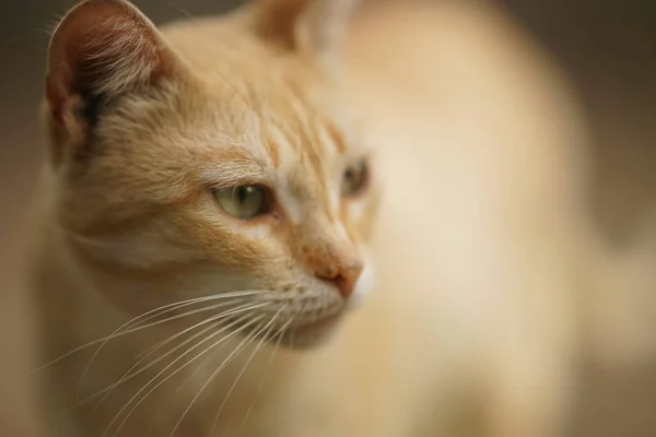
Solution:
M524 27L573 84L593 139L589 208L605 238L623 247L656 204L656 2L488 2ZM28 218L40 165L37 106L48 29L72 3L3 1L0 14L0 436L37 432L28 381L20 377L30 350L28 296L22 280L26 231L21 225ZM238 1L136 3L160 23L219 13ZM590 365L582 370L581 381L573 436L656 436L656 365L621 370ZM593 426L595 434L588 434Z

